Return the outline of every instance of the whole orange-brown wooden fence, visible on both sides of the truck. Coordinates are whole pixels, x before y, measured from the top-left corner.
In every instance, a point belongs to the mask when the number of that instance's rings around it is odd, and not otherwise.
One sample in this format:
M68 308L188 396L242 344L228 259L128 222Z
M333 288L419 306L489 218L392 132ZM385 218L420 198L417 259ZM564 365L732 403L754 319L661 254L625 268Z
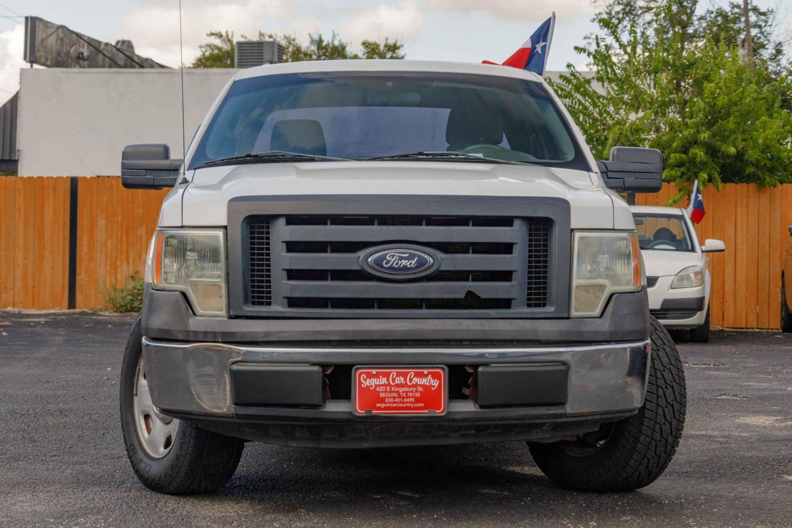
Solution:
M106 287L143 273L166 192L131 191L118 177L0 177L0 307L104 306ZM665 184L636 201L662 205L673 193ZM712 324L779 328L792 184L726 184L705 188L703 198L699 239L726 244L710 254Z

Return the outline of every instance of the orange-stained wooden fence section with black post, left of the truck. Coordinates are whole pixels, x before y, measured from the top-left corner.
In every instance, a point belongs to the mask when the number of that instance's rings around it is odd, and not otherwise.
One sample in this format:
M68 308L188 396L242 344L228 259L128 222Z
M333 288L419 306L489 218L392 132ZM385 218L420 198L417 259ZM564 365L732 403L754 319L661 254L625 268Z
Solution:
M93 308L143 274L167 189L119 177L0 177L0 307Z

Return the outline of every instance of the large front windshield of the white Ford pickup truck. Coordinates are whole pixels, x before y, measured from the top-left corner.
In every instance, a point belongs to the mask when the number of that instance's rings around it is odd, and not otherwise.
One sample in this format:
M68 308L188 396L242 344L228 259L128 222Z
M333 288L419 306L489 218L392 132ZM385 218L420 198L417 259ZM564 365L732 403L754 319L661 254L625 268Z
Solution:
M545 87L494 75L341 72L242 79L219 105L189 168L271 150L356 160L463 152L588 170Z

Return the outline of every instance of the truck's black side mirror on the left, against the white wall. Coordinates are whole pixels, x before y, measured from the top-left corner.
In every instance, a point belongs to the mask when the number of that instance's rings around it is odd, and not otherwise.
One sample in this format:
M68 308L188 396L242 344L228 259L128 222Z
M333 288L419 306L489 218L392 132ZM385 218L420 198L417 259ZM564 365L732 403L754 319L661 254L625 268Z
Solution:
M128 189L173 187L181 159L170 159L170 147L162 143L128 145L121 154L121 184Z

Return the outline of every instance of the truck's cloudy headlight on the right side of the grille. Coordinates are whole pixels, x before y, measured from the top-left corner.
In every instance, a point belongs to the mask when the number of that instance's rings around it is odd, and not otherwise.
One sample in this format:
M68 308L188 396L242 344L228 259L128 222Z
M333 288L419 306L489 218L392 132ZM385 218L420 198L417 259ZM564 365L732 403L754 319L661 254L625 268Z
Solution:
M599 317L612 293L641 291L642 260L634 231L576 231L572 317Z

